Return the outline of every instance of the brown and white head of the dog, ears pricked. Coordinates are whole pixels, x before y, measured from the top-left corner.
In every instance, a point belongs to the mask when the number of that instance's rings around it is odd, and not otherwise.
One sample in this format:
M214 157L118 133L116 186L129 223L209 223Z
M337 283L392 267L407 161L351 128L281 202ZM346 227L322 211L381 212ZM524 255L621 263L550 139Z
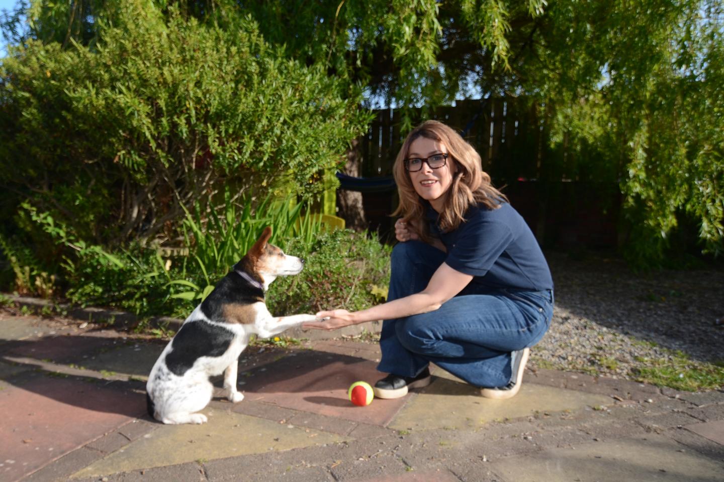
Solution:
M269 244L271 228L267 226L246 256L238 263L240 269L250 275L261 277L264 291L277 276L297 275L304 267L304 261L289 256L273 244Z

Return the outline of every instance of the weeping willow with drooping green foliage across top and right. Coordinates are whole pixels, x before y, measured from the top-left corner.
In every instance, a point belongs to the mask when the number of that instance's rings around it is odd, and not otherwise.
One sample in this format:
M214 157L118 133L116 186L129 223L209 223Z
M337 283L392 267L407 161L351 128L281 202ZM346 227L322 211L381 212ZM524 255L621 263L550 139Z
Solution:
M631 259L661 261L683 218L699 225L705 250L723 249L721 0L156 4L227 29L251 18L282 55L319 66L350 93L365 90L364 106L381 99L425 111L471 96L526 99L552 147L578 154L581 176L618 183ZM55 14L43 17L49 5ZM70 6L33 8L38 32L70 18ZM88 41L80 33L92 28L74 31ZM404 119L402 132L412 116Z

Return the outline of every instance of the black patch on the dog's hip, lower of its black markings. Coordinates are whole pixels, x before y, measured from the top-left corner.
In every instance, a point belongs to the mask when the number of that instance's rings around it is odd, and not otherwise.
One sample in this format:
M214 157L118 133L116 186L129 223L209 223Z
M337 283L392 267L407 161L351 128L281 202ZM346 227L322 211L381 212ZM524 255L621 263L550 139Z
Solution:
M229 349L234 332L203 320L186 322L174 336L166 366L174 375L183 376L202 356L222 356Z

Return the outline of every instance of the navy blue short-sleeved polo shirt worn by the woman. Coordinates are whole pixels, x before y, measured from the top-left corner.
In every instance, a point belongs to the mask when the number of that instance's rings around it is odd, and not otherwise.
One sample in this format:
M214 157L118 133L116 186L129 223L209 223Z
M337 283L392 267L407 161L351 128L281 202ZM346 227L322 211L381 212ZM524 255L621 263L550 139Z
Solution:
M544 291L553 289L548 263L533 232L513 206L503 202L498 209L470 207L466 221L442 233L437 212L428 208L430 233L445 244L445 262L453 270L473 275L473 283L491 290Z

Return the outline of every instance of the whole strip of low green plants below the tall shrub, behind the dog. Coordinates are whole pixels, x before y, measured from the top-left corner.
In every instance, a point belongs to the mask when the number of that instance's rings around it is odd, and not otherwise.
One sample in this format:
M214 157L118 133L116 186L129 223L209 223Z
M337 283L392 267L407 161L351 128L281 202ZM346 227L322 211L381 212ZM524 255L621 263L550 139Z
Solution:
M227 194L228 195L228 194ZM256 241L266 225L272 242L288 254L306 260L300 275L279 277L267 293L274 314L316 312L321 309L364 309L384 301L390 280L390 247L376 237L348 230L321 231L313 216L300 216L305 205L289 201L247 199L228 202L224 215L188 213L188 254L162 256L155 247L130 244L109 252L78 238L64 223L26 204L33 225L62 252L59 277L72 304L130 311L141 318L167 315L185 318ZM204 220L202 222L202 219ZM0 237L0 246L38 264L27 250L13 248ZM16 264L17 257L12 257ZM28 270L25 285L36 288L47 276ZM38 281L40 280L40 281Z

